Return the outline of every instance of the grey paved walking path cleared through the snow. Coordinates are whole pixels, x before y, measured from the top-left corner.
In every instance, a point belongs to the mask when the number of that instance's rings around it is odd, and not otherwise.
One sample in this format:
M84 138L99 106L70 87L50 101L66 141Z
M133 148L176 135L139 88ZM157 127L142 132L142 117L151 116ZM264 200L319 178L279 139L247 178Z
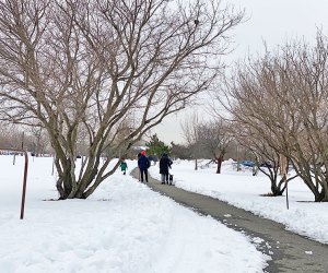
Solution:
M132 175L138 178L138 170L134 169ZM328 273L327 245L290 233L281 224L261 218L218 199L161 185L159 180L151 177L149 180L148 186L154 191L192 207L200 214L211 215L227 227L244 232L251 238L263 239L265 242L258 245L257 249L272 258L268 262L266 272Z

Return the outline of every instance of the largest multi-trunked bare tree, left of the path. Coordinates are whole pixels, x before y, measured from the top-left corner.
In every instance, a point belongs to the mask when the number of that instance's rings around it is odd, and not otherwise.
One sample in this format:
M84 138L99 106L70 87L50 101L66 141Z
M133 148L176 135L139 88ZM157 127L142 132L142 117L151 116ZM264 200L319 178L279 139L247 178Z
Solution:
M176 3L176 2L175 2ZM37 119L56 152L60 199L87 198L122 153L211 88L243 12L221 1L5 0L0 3L1 118ZM116 129L132 117L130 134ZM87 163L75 176L77 140Z

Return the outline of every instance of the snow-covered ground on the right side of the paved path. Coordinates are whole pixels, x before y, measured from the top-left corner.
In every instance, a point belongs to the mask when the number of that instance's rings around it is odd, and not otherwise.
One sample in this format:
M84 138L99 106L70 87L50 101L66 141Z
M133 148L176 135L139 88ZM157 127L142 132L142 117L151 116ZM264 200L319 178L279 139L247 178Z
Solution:
M204 166L209 161L203 161ZM328 244L328 203L315 203L314 197L300 178L289 183L290 209L283 197L262 197L270 192L270 181L263 175L251 176L251 170L236 171L232 161L222 166L222 174L215 174L215 165L195 170L195 163L175 161L172 174L176 187L226 201L237 207L285 225L286 229ZM159 168L150 170L160 178Z

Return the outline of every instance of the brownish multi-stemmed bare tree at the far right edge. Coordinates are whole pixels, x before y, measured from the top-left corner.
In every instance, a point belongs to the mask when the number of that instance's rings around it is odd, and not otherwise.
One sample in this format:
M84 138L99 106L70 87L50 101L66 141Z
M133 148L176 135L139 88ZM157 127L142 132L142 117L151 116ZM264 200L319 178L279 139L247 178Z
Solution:
M328 43L294 43L241 66L225 90L232 120L284 155L315 195L328 201ZM223 102L221 99L221 102Z

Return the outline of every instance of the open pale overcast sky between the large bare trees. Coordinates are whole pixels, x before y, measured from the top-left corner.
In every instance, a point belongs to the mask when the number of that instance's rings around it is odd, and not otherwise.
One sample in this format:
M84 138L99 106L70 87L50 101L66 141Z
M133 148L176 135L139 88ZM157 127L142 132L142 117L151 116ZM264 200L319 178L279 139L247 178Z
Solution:
M246 10L248 21L234 32L236 49L226 61L244 58L248 52L262 52L266 40L269 49L291 38L314 41L317 27L328 35L328 0L225 0ZM198 112L203 112L201 108ZM203 114L203 117L206 114ZM166 142L183 143L180 120L185 114L167 118L154 132Z

